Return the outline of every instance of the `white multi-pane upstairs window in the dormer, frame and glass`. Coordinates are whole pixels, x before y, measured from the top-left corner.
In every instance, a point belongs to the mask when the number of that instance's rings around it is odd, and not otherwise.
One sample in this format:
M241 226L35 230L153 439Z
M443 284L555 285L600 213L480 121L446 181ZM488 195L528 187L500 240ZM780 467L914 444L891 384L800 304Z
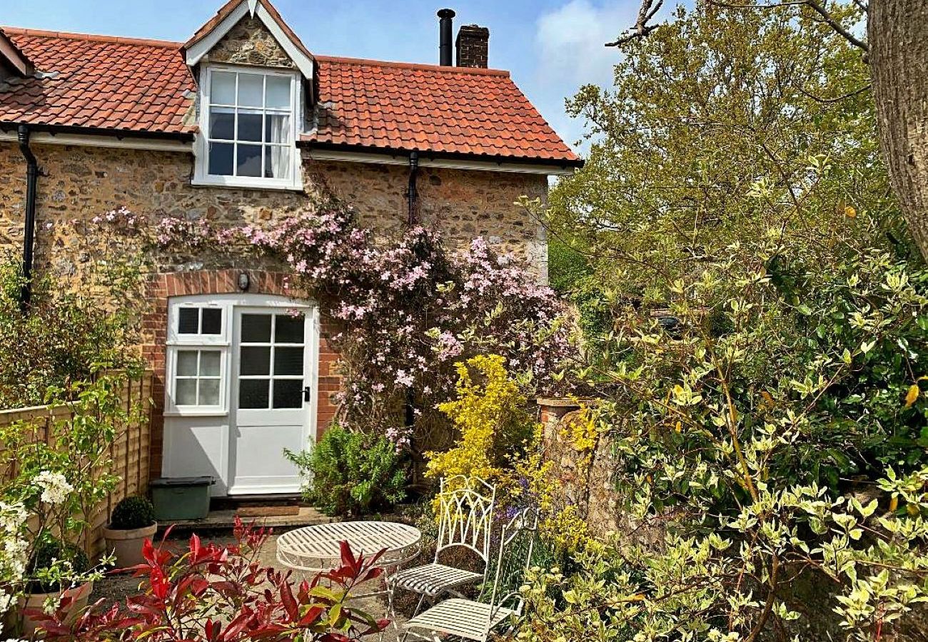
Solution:
M194 183L300 189L299 74L207 66Z

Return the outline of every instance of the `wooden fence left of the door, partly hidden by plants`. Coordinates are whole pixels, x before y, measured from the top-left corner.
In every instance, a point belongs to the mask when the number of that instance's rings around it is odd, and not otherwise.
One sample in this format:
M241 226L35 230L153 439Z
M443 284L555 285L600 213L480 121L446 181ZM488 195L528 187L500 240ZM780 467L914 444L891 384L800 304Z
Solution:
M134 404L143 404L144 420L124 426L119 430L115 442L110 446L113 470L122 481L105 501L101 502L94 514L88 517L91 528L87 530L84 547L91 556L103 552L103 527L110 520L113 507L122 497L131 494L148 493L148 468L150 466L149 444L151 441L151 383L152 372L146 371L141 379L127 379L122 389L122 400L126 409ZM17 421L32 421L39 427L38 434L50 433L50 426L55 418L68 417L70 410L66 407L49 408L45 405L30 408L0 410L0 426ZM44 430L42 430L44 429ZM6 474L8 471L0 471Z

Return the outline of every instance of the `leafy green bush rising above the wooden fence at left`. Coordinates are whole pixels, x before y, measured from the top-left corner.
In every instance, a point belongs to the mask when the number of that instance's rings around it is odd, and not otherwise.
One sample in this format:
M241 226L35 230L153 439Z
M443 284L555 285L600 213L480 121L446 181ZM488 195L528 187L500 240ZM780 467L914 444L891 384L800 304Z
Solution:
M89 294L95 283L67 292L56 279L42 276L33 284L31 308L23 312L21 285L19 259L12 253L0 257L0 408L44 404L49 386L89 379L101 366L139 366L131 307L110 309ZM110 303L124 301L124 289L111 291Z

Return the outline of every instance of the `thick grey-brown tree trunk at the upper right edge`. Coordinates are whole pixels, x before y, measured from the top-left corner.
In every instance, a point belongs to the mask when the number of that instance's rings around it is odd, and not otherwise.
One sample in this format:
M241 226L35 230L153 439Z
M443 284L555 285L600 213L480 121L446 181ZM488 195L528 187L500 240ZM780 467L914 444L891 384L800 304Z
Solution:
M883 156L928 258L928 2L870 0L867 31Z

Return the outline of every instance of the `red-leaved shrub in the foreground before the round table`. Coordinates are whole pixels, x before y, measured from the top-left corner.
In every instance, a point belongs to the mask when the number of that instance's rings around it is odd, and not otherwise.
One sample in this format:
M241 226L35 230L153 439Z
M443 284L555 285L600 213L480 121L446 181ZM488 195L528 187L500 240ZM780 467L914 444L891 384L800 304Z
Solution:
M101 599L76 619L67 597L54 613L31 615L46 640L60 642L350 642L387 625L345 604L356 585L380 577L380 554L355 557L342 543L340 568L295 584L291 571L260 564L270 534L237 518L233 546L203 545L194 534L175 553L164 539L157 547L146 540L145 563L133 569L146 578L138 595L109 608Z

